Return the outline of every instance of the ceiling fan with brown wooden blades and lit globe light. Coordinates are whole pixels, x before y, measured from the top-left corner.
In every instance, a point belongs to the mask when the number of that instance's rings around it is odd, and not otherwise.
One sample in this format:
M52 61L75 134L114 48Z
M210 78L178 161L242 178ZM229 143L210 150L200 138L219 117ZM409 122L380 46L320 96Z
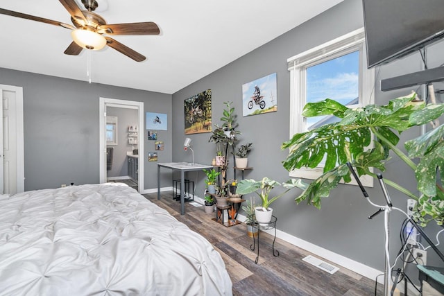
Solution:
M26 15L22 12L15 12L0 8L1 15L10 15L12 17L21 17L22 19L31 19L32 21L40 21L42 23L55 26L62 26L71 31L73 42L69 44L65 50L67 55L78 55L83 49L100 50L105 45L112 49L123 53L132 58L136 62L142 62L146 58L144 55L137 53L128 46L108 37L107 35L159 35L160 30L157 24L152 21L128 24L106 24L105 19L93 11L99 6L96 0L82 0L86 10L80 9L75 0L59 0L60 3L68 10L71 15L71 21L74 26L64 24L60 21L52 19L44 19L43 17L35 17Z

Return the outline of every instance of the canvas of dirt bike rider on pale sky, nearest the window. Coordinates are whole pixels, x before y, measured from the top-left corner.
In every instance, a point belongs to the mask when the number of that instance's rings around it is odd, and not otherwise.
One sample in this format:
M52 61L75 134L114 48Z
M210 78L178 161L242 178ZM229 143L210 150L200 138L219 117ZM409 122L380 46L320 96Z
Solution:
M276 73L242 85L242 114L250 116L278 111Z

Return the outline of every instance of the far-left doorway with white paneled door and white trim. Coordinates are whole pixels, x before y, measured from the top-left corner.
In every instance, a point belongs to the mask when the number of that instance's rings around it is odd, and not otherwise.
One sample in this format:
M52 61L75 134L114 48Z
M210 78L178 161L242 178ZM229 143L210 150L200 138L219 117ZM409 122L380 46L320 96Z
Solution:
M0 193L24 191L23 89L0 85Z

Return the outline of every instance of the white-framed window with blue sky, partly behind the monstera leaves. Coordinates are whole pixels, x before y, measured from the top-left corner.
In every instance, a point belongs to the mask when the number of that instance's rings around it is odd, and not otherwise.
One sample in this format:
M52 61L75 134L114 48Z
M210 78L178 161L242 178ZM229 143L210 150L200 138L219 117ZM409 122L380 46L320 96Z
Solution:
M291 76L290 137L339 121L334 116L302 116L306 103L330 98L355 108L374 102L375 73L366 66L364 28L295 55L287 62ZM290 176L316 179L322 172L322 166L301 168L291 171ZM365 177L363 183L371 186L373 178Z

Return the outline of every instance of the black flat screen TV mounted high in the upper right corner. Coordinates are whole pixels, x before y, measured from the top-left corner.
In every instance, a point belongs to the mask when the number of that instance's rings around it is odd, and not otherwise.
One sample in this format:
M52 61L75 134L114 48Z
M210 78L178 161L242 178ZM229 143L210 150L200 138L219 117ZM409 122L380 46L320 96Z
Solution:
M391 62L444 36L443 0L363 0L367 64Z

